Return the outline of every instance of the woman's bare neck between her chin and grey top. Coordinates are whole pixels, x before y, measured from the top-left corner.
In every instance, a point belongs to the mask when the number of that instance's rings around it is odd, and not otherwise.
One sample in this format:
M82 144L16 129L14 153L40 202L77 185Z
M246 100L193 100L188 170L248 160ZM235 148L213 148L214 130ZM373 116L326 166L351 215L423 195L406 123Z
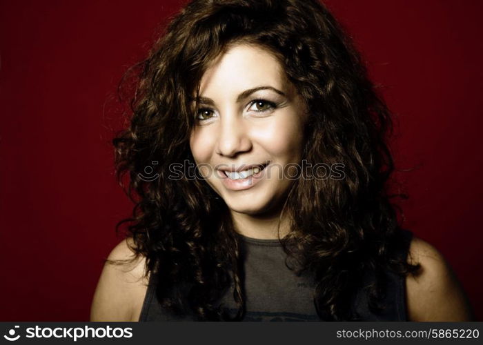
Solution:
M237 213L231 211L233 226L235 231L246 237L257 239L277 239L278 224L280 222L280 238L284 237L290 231L290 222L288 217L280 219L280 213L263 214L263 215L247 215L245 213Z

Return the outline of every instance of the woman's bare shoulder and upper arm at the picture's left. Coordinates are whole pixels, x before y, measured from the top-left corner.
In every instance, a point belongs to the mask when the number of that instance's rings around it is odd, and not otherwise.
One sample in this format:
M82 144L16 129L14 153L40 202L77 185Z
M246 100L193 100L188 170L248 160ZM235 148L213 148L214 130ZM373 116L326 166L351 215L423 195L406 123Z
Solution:
M131 238L110 252L92 299L90 321L137 321L149 276L146 258L135 257Z

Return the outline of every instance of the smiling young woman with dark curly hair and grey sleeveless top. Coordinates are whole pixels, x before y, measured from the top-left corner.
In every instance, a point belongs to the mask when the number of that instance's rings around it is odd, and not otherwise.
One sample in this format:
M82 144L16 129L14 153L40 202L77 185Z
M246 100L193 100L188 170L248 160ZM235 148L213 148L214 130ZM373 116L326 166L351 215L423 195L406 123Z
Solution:
M317 0L191 1L132 109L114 146L136 206L92 321L472 318L397 224L390 113Z

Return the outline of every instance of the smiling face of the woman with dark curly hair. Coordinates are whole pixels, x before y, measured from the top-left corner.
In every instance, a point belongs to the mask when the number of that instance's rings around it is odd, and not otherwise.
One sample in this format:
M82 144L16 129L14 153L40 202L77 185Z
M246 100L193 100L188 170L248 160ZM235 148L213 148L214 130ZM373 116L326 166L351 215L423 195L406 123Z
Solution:
M267 50L234 46L206 70L199 97L190 149L201 175L234 212L275 210L295 179L305 117L282 66Z

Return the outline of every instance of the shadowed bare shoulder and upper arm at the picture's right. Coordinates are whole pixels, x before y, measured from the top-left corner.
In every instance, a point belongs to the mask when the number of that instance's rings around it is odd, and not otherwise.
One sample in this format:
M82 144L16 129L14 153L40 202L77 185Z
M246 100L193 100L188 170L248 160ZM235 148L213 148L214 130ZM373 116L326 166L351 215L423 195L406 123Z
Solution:
M409 321L471 321L473 314L464 290L451 266L434 246L413 237L408 263L420 264L415 275L406 277Z

